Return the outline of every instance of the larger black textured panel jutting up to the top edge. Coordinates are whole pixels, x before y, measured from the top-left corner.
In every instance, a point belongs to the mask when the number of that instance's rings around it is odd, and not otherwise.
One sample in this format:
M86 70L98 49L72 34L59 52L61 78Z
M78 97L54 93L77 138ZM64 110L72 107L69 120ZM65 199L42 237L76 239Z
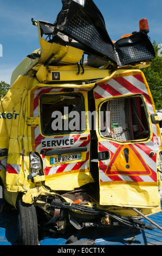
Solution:
M55 30L86 46L87 52L106 56L115 62L113 42L103 16L93 1L86 0L84 5L80 5L73 0L62 0L62 4Z

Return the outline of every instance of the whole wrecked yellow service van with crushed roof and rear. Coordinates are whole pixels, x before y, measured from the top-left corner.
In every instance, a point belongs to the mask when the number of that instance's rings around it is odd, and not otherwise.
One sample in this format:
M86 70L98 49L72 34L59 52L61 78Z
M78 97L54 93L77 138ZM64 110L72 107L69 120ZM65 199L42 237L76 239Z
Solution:
M62 3L54 24L32 19L41 48L0 105L3 197L23 245L38 245L38 224L143 229L140 212L161 211L160 118L140 70L155 57L147 20L113 42L92 0Z

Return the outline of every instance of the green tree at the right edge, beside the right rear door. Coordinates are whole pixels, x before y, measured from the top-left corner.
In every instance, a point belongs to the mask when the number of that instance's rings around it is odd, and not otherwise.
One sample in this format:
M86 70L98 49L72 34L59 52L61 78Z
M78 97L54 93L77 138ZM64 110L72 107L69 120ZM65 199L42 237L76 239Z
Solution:
M162 109L162 57L158 56L158 45L153 41L155 59L148 68L142 69L150 87L155 108Z

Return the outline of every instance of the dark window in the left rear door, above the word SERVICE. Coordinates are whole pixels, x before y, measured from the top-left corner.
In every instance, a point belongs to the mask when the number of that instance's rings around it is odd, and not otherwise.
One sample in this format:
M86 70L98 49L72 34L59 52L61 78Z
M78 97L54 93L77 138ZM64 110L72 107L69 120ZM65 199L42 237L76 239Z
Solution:
M45 136L86 130L85 102L80 93L42 94L40 109L42 134Z

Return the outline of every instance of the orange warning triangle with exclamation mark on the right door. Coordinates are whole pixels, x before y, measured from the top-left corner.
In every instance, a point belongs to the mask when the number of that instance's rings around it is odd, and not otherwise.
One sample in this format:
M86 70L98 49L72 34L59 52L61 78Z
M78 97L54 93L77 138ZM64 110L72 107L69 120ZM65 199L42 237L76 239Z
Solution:
M131 145L120 145L109 163L106 175L151 175L151 169Z

